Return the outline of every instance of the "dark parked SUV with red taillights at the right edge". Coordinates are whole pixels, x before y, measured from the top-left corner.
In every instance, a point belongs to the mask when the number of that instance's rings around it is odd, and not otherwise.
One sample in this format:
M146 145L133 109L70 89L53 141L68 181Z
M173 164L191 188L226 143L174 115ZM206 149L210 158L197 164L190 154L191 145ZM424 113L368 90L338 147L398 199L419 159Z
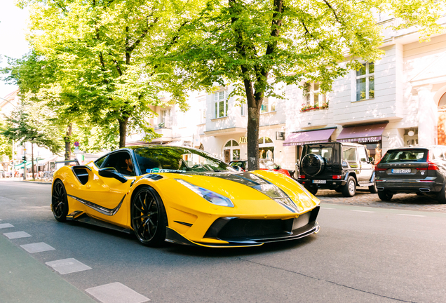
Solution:
M378 196L390 201L394 194L433 194L446 203L446 146L389 149L374 168Z

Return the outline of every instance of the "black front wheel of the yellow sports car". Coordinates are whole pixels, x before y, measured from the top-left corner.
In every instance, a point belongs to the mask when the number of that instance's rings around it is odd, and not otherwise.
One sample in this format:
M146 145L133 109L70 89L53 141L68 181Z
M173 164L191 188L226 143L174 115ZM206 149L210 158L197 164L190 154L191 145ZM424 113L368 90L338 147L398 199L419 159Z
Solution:
M156 247L165 240L167 215L161 197L151 187L140 188L132 201L132 227L135 236L144 245Z

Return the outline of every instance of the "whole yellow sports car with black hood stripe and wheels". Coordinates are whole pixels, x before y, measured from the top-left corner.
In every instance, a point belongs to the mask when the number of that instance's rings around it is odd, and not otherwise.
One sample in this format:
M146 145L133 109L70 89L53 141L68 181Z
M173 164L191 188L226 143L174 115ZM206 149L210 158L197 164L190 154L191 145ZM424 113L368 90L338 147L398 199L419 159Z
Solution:
M200 149L117 149L53 177L51 209L146 245L255 246L317 233L318 198L281 173L238 172Z

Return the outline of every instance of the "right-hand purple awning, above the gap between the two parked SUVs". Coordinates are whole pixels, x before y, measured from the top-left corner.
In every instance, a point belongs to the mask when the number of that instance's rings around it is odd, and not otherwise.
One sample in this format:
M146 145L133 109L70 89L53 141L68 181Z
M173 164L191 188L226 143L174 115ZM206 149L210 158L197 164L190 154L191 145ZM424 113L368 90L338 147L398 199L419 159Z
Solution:
M371 124L367 126L344 127L337 137L338 142L379 142L387 123Z

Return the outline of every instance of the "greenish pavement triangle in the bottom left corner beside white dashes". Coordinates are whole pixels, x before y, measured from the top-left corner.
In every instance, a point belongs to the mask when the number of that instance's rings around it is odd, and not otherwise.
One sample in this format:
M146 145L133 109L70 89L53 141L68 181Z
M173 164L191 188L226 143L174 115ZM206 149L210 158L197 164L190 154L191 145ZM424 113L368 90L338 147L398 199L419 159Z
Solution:
M0 235L0 302L96 302Z

